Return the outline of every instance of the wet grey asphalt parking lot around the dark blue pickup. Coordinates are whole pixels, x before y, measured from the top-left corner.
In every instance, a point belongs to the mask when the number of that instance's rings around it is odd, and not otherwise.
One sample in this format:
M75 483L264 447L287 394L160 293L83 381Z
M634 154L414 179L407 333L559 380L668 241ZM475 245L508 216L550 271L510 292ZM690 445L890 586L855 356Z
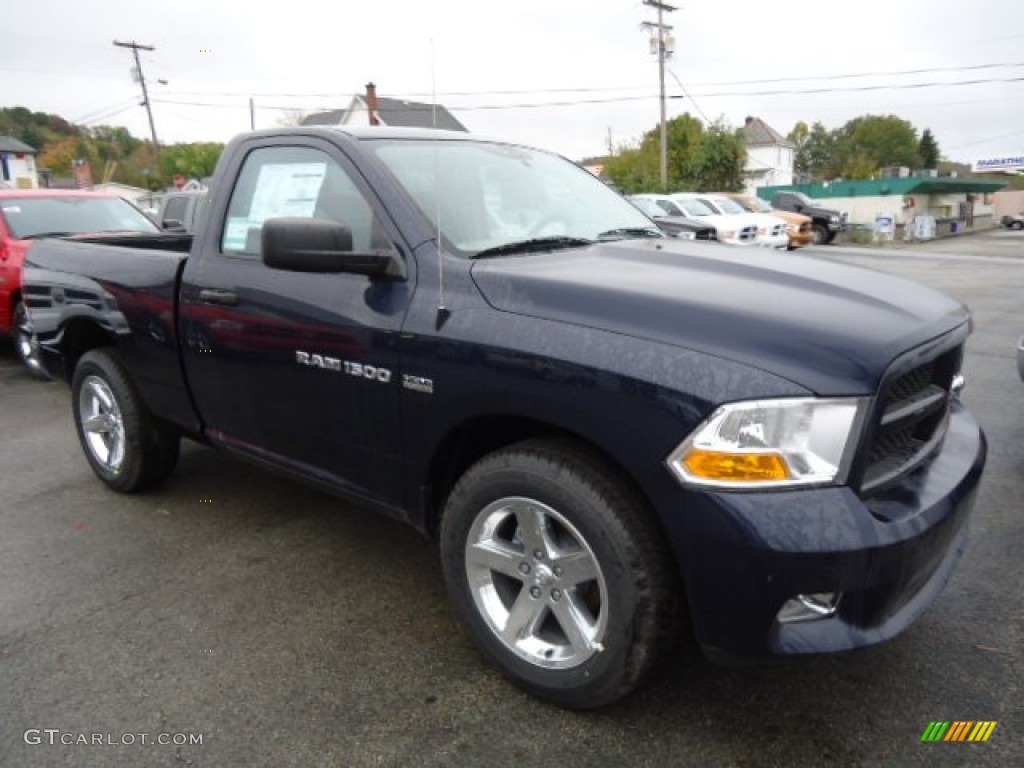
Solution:
M560 711L483 667L413 530L194 445L159 490L109 493L67 388L5 346L0 766L1024 765L1024 236L807 257L975 312L964 398L990 455L973 538L899 638L743 668L684 646L626 701ZM936 720L998 725L985 743L922 743Z

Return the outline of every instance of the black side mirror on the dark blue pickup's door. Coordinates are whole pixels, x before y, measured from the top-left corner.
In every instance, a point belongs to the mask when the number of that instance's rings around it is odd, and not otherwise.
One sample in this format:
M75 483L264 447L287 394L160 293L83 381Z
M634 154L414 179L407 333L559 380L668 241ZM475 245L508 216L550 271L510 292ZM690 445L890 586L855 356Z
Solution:
M352 230L337 221L267 219L263 222L261 245L263 263L272 269L406 279L406 265L398 254L353 251Z

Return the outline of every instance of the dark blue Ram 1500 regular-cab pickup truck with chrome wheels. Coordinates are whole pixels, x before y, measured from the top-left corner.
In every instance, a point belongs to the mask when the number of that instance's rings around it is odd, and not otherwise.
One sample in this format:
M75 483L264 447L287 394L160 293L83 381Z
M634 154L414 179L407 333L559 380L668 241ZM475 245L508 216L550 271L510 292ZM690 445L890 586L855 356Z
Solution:
M971 319L906 281L664 237L466 134L232 141L191 236L38 243L25 296L98 477L179 438L439 540L486 658L567 707L906 628L964 551ZM395 567L381 552L381 567Z

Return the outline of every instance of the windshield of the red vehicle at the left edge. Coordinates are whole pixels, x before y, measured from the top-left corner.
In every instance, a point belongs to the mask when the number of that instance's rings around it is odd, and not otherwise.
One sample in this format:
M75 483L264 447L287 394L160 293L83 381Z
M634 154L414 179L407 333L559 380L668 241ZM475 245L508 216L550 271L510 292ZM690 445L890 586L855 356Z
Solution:
M97 232L159 232L131 203L121 198L54 196L0 199L7 228L17 240L40 234Z

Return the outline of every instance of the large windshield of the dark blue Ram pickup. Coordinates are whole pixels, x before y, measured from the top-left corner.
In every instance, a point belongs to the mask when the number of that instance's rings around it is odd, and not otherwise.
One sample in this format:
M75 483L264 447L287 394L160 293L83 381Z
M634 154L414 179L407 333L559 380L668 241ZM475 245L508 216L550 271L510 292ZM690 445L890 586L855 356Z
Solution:
M556 155L482 141L381 140L371 147L423 214L440 219L446 246L463 256L527 240L653 230L618 193Z

